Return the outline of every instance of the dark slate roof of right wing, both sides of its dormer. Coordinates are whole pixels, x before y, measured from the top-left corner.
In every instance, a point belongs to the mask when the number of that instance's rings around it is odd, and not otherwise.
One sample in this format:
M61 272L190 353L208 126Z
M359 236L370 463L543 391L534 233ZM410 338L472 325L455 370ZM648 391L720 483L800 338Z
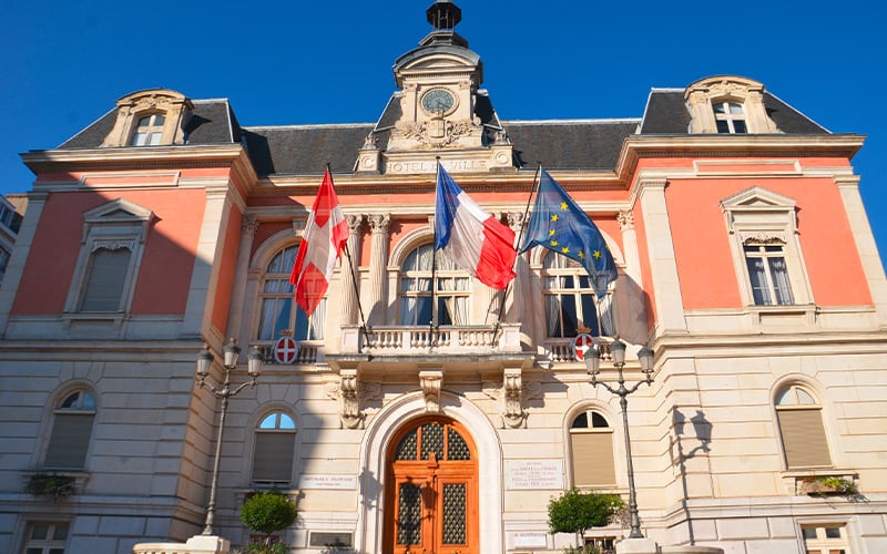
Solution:
M769 92L764 92L764 109L786 134L828 134L813 120ZM683 89L653 89L646 102L641 134L689 134L690 111Z

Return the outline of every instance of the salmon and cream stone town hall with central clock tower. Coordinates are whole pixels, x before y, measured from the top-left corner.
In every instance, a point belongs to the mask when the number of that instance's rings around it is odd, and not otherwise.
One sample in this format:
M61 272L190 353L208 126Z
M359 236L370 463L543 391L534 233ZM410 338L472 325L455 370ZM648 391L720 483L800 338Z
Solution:
M737 75L652 89L626 117L512 121L459 8L427 16L376 123L251 126L149 89L22 154L0 552L123 554L205 526L243 547L241 505L275 490L293 553L553 553L577 542L548 522L572 488L636 490L671 552L887 552L864 137ZM613 256L603 295L550 249L504 291L434 249L438 164L520 237L540 163ZM306 316L289 278L327 164L347 255ZM227 369L246 386L222 399ZM601 384L623 372L626 412ZM612 548L630 515L582 540Z

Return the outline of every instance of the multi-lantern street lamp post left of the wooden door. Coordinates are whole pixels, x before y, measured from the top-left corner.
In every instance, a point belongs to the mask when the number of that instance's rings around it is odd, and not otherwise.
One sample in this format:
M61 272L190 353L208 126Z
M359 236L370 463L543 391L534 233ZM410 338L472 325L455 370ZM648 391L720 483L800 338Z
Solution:
M204 535L213 534L213 517L215 516L215 495L218 488L218 458L222 453L222 433L225 431L225 412L228 409L228 398L237 396L246 386L255 387L256 379L262 375L262 352L258 348L253 347L247 355L248 362L246 371L249 373L249 380L242 383L236 389L231 388L231 371L237 368L237 358L241 355L241 347L237 346L235 339L231 339L227 345L222 348L224 353L223 365L225 366L225 381L221 388L215 387L212 382L206 380L210 375L210 368L213 365L213 355L210 352L210 346L203 345L203 350L197 355L197 388L203 389L207 387L216 398L222 399L222 413L218 417L218 434L215 440L215 459L213 460L213 481L210 485L210 502L206 504L206 526L203 529Z

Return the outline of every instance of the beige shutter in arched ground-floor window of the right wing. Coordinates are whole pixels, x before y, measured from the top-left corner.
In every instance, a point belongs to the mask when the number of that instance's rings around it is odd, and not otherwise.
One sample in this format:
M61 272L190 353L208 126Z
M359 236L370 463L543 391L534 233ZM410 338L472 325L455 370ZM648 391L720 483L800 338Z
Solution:
M788 468L828 468L828 443L819 410L778 410Z

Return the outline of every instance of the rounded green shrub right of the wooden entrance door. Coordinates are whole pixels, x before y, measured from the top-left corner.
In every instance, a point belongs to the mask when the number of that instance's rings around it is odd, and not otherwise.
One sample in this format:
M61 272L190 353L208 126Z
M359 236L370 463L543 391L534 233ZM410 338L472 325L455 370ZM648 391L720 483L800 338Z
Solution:
M548 503L549 532L552 534L575 533L579 544L582 544L585 530L606 526L613 515L619 513L624 505L622 499L616 494L583 493L579 489L570 489L560 497L551 499ZM564 552L589 551L584 546L577 546Z

